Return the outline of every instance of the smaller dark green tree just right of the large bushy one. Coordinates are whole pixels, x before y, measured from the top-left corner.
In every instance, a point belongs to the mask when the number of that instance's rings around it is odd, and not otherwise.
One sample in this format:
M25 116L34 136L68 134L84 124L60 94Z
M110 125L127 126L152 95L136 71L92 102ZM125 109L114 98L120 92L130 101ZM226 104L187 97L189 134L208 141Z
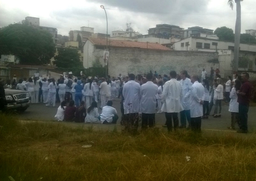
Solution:
M83 68L80 55L74 48L59 48L58 55L54 56L54 64L61 68Z

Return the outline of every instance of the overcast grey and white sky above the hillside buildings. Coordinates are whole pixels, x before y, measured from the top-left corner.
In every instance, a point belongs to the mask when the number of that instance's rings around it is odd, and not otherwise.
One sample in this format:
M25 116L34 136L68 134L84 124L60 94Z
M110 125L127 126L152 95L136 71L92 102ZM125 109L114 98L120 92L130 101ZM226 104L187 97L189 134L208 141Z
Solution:
M56 27L58 34L68 35L81 26L94 27L95 33L125 30L132 23L135 31L147 34L156 24L172 24L187 29L201 26L215 30L227 26L235 30L236 11L228 0L0 0L0 27L20 22L26 16L39 17L40 26ZM244 0L242 29L256 29L256 0Z

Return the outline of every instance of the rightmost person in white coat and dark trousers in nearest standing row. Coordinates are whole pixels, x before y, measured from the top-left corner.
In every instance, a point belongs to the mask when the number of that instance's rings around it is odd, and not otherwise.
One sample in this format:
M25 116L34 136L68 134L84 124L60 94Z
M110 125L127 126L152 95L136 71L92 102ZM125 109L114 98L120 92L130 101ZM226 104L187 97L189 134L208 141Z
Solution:
M193 75L191 82L191 92L186 94L185 99L190 99L190 124L191 130L201 132L201 122L203 116L203 100L204 100L204 87L198 82L198 76Z

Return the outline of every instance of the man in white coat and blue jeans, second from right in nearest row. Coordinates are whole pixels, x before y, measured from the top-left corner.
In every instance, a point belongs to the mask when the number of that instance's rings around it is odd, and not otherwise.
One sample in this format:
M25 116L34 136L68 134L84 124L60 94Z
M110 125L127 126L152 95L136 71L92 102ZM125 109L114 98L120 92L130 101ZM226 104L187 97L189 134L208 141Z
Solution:
M184 101L185 95L191 90L191 80L188 77L188 73L186 70L181 71L180 73L181 76L181 86L182 86L182 91L183 91L183 98L181 100L181 105L182 108L184 109L183 111L180 112L180 116L181 116L181 125L179 126L179 128L186 128L186 125L188 123L188 127L187 129L191 128L190 125L190 103L189 101ZM186 121L187 119L187 121Z

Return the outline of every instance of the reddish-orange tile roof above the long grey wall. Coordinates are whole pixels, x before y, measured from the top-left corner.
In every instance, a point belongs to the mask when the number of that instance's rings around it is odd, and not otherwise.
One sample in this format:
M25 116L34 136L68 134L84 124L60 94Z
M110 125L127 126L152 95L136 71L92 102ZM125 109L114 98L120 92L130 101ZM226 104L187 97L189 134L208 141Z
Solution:
M106 46L106 39L104 38L88 38L94 45ZM108 46L112 48L140 48L140 49L150 49L150 50L171 50L165 46L158 43L149 42L138 42L138 41L121 41L121 40L108 40Z

